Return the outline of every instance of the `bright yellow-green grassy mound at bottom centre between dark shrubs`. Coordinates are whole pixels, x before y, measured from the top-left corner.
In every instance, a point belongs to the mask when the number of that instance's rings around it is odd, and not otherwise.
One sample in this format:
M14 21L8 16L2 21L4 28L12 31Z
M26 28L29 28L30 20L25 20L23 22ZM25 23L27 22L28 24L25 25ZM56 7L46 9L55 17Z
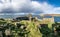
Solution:
M33 22L27 23L27 30L30 31L28 37L42 37L42 34L39 31L39 28Z

